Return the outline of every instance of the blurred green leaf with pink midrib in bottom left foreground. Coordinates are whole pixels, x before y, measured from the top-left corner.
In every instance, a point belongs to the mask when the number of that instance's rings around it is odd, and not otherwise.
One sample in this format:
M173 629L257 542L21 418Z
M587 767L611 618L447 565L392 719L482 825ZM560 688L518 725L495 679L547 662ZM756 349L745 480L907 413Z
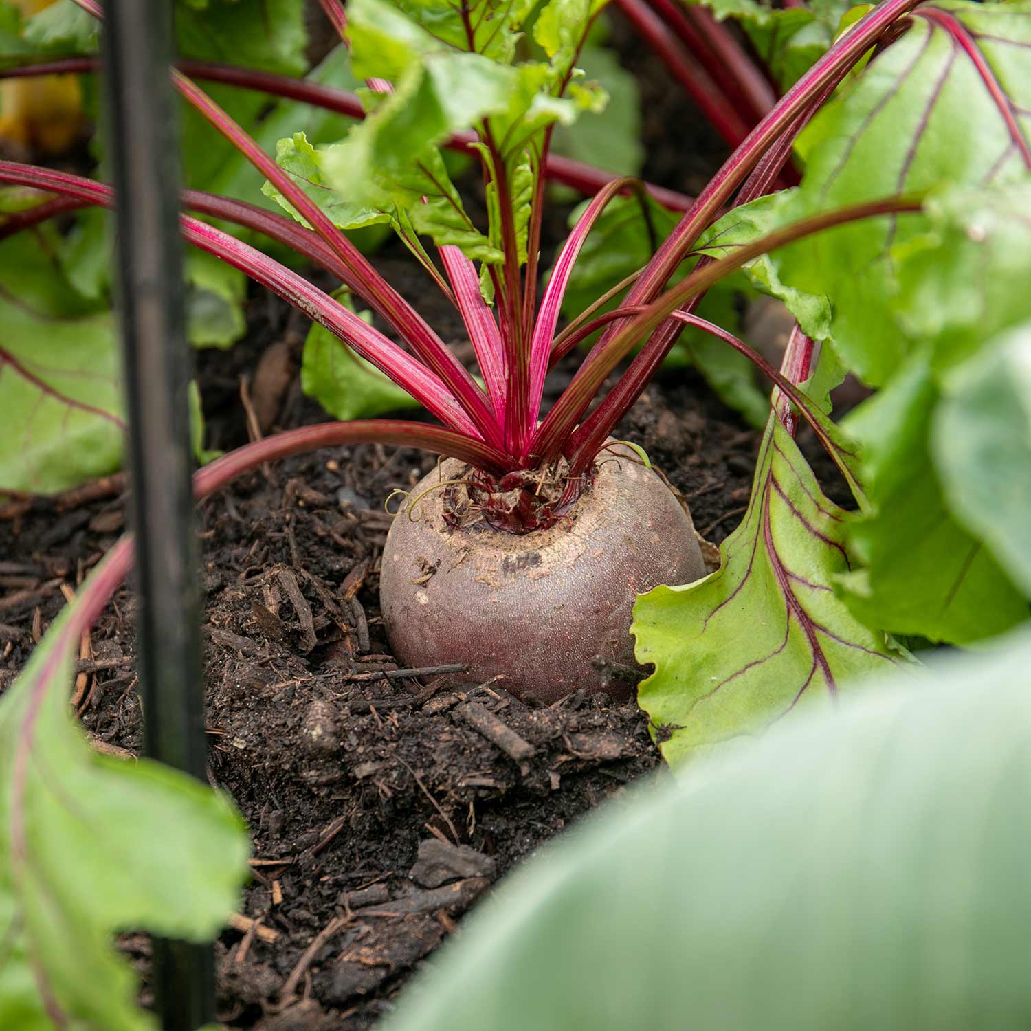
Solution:
M68 705L81 630L66 610L0 698L0 1025L20 1031L153 1027L112 935L210 939L247 875L225 798L87 743Z

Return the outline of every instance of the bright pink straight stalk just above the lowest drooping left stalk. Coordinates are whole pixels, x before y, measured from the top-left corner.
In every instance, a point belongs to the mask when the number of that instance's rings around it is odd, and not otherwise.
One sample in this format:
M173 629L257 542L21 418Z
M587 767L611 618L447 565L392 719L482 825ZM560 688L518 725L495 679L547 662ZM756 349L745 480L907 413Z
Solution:
M114 192L110 187L51 169L0 162L0 180L36 187L103 207L111 207L114 203ZM188 215L181 217L180 222L184 235L191 243L213 254L268 287L352 346L358 355L371 362L385 375L411 394L441 422L473 438L478 438L476 428L443 384L429 369L378 330L348 311L329 294L257 248L242 243L213 226Z

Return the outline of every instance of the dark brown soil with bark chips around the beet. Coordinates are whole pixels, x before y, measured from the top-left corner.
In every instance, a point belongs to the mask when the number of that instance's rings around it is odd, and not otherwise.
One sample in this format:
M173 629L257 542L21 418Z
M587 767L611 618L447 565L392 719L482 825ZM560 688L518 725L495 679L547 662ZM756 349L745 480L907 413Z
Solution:
M697 118L670 99L679 91L654 58L623 49L651 98L647 174L697 186L719 145L691 130L674 146L665 130ZM375 261L460 343L397 250ZM255 293L250 327L232 352L199 357L211 446L247 439L241 381L262 432L325 419L298 384L304 322ZM646 448L705 537L737 525L758 434L694 374L657 383L619 435ZM218 944L229 1026L371 1027L496 878L658 766L633 703L573 695L536 708L503 681L399 671L379 620L383 505L431 465L412 451L339 448L255 471L200 506L209 778L243 812L255 856L238 926ZM61 585L81 583L124 529L124 490L113 477L0 522L0 688L60 611ZM98 746L136 753L133 608L126 588L98 621L74 701ZM124 945L145 969L145 939Z

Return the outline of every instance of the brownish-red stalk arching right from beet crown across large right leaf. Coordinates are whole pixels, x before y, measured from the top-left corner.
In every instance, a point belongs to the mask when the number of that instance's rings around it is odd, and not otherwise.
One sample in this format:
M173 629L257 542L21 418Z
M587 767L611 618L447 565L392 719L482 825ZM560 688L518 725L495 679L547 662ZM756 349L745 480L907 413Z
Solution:
M547 413L544 422L541 423L531 454L544 461L552 460L568 438L573 423L605 381L605 377L630 353L634 345L658 329L678 307L704 293L725 275L740 268L754 258L775 251L777 247L801 239L803 236L878 214L920 210L921 204L918 200L906 197L888 197L834 211L821 212L775 230L761 239L742 244L732 255L720 258L704 268L696 268L683 282L666 291L643 312L622 325L617 324L620 325L620 329L613 336L607 340L603 336L595 344L576 375L573 376L569 387L566 388L565 393ZM574 473L576 463L583 461L584 455L588 451L587 443L579 444L576 451L576 462L573 465ZM593 455L594 452L590 454ZM587 461L589 462L590 458Z

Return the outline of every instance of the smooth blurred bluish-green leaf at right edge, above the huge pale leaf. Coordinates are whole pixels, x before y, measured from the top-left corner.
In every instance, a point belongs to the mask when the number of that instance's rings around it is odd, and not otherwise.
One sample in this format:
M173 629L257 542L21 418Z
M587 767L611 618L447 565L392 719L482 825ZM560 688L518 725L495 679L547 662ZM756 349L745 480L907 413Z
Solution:
M931 452L949 506L1031 596L1031 324L955 369L944 394Z

